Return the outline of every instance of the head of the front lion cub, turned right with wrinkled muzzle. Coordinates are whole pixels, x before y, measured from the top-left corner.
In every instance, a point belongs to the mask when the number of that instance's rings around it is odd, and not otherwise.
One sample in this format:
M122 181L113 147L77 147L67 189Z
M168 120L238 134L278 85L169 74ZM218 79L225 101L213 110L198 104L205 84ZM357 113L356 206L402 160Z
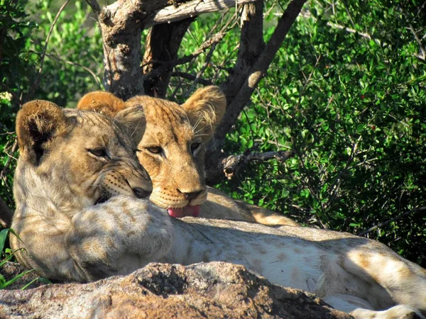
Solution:
M17 206L34 201L72 214L117 194L149 196L151 180L126 132L142 109L125 111L113 119L48 101L26 103L16 118L21 153L14 184Z

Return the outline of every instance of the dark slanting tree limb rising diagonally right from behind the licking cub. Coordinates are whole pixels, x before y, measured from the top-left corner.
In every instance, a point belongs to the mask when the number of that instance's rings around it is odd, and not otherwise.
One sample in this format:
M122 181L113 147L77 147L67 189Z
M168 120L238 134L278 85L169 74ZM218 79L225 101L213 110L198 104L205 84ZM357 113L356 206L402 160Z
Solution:
M265 49L256 60L256 63L250 69L249 75L246 77L243 86L235 95L234 99L226 108L226 113L222 119L222 123L218 126L214 138L209 143L207 150L206 164L210 166L217 162L220 156L220 150L224 144L225 135L231 130L232 125L238 118L244 106L250 101L251 94L258 85L258 82L265 76L266 70L275 57L276 52L280 48L290 27L295 22L298 14L302 10L302 6L306 0L293 0L281 16L278 25L275 28L271 39L268 41Z

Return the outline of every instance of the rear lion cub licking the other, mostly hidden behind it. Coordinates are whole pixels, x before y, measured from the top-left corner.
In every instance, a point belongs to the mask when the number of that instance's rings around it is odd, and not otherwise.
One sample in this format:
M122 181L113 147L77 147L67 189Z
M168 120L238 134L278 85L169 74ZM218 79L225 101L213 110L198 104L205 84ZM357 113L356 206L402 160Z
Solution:
M77 108L113 116L124 108L141 106L144 117L138 142L138 159L153 181L151 201L170 216L198 216L249 220L266 225L298 225L273 211L234 201L204 182L204 145L221 121L226 99L217 86L199 89L181 106L150 96L122 101L113 94L86 94ZM141 136L143 135L143 138ZM206 201L207 199L207 201Z

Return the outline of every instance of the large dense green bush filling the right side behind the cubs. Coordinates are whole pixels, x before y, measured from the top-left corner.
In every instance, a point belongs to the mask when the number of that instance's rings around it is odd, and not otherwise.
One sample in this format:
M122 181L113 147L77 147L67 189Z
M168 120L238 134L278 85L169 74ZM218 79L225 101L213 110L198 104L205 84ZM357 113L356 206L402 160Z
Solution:
M296 156L252 164L221 187L351 233L425 206L426 67L410 30L425 32L420 5L312 1L226 147L238 153L261 142L262 151ZM368 235L425 266L425 220L413 213Z

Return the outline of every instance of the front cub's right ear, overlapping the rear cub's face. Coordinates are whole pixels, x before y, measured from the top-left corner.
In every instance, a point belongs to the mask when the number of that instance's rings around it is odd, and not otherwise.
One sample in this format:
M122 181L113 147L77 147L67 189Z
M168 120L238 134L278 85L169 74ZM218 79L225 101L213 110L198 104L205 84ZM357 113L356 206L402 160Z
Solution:
M123 111L116 114L115 121L121 124L136 145L141 142L146 128L145 113L142 106L124 108Z

